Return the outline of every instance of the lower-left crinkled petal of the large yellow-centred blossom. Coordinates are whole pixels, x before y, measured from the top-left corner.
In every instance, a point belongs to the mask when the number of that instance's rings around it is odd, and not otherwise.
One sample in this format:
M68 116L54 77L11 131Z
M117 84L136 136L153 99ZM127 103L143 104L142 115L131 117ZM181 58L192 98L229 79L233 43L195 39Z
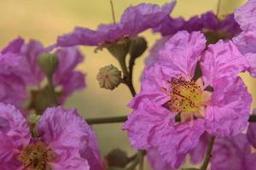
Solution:
M128 138L134 148L145 150L158 140L155 131L172 126L173 122L174 115L170 111L144 99L139 108L128 116L123 129L128 131Z

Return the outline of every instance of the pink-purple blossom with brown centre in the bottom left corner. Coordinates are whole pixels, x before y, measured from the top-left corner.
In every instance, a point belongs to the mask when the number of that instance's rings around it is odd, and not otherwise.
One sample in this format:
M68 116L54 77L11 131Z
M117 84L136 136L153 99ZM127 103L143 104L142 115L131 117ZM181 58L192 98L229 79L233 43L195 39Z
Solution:
M0 108L1 169L102 170L95 134L77 111L47 109L35 138L15 106L0 104ZM80 154L83 150L88 154Z

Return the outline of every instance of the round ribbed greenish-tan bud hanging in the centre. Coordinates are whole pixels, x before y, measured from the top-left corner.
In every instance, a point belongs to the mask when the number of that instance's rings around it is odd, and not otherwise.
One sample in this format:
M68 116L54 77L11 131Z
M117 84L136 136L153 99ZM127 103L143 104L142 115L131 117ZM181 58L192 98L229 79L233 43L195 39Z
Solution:
M100 69L96 79L101 88L113 90L113 88L117 88L121 82L121 71L113 65L107 65Z

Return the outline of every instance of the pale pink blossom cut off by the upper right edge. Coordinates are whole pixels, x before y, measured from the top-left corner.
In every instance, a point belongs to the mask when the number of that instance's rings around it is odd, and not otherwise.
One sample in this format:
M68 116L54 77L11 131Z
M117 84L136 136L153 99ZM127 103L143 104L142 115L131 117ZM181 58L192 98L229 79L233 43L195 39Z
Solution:
M242 32L233 38L237 48L245 54L252 77L256 77L256 1L249 0L241 8L237 8L235 19L241 26Z

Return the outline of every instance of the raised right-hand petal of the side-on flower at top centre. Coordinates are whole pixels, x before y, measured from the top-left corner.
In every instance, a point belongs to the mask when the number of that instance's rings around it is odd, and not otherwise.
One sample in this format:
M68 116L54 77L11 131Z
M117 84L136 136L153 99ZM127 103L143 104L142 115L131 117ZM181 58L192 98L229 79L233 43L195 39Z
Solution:
M162 20L169 17L175 1L166 3L163 7L156 4L141 3L125 9L120 24L124 26L126 35L136 36L138 33L159 26Z

